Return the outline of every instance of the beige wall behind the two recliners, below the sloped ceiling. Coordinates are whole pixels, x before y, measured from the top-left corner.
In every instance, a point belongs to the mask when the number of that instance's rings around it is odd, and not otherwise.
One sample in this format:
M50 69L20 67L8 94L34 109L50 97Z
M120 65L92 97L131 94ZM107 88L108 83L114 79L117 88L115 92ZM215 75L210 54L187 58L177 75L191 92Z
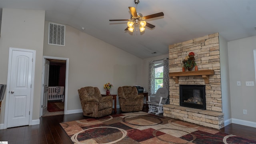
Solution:
M114 86L110 93L117 94L119 86L142 84L141 58L70 26L66 26L66 46L48 45L47 38L45 22L44 56L69 58L67 110L81 109L77 90L84 86L96 86L105 94L103 85L110 82Z

